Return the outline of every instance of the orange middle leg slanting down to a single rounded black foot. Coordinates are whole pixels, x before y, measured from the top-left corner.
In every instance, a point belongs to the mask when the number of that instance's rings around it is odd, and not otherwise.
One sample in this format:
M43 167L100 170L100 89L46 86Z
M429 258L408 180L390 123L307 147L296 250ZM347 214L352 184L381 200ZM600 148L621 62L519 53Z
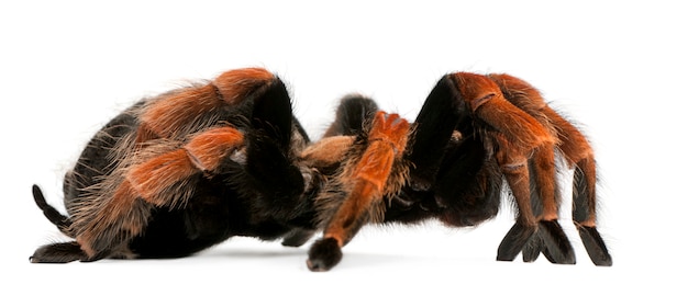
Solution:
M308 267L326 271L342 259L344 247L375 215L388 190L392 166L403 155L410 125L397 114L378 112L360 158L344 168L347 196L330 218L323 238L309 251Z

